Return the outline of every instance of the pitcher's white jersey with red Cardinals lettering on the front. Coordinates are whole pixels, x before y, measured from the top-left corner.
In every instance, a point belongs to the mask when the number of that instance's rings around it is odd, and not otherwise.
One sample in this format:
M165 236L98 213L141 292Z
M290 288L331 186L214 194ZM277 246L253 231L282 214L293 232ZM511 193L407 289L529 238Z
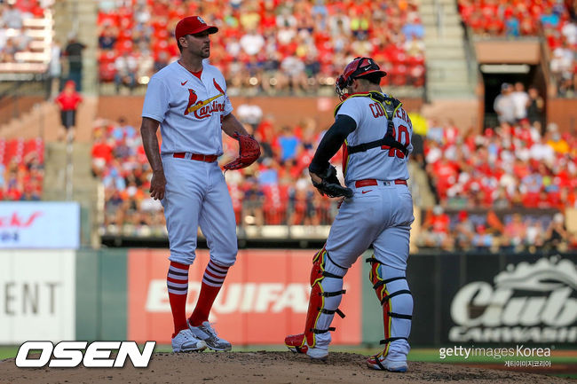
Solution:
M161 153L221 155L221 119L231 112L217 67L203 63L199 79L178 61L152 76L142 107L143 117L161 122Z

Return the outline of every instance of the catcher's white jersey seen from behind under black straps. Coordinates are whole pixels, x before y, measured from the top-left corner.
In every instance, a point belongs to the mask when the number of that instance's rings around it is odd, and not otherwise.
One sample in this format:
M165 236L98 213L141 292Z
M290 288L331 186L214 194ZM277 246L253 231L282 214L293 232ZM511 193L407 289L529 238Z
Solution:
M385 95L386 96L386 95ZM340 106L336 116L345 114L357 122L355 129L346 138L345 145L353 146L369 143L383 138L387 131L387 117L383 106L372 98L355 96L347 98ZM392 119L393 137L402 145L407 145L408 152L413 151L411 137L413 125L402 107L397 109ZM344 181L350 185L356 180L407 180L408 157L396 149L382 147L371 148L365 152L345 152L343 161Z

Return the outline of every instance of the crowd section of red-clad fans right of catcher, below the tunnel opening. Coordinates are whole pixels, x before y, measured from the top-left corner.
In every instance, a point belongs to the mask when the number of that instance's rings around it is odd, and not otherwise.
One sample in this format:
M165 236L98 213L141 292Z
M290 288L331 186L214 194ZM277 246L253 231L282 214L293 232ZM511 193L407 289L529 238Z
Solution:
M504 123L479 135L427 137L424 155L445 207L563 209L575 204L575 145L552 128L541 137L528 123Z

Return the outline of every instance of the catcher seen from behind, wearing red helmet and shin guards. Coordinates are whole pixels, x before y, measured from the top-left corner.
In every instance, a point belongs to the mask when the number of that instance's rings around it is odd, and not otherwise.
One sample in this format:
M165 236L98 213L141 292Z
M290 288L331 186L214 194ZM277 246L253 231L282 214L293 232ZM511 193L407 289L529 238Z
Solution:
M383 94L386 75L373 59L357 58L336 80L342 103L335 123L320 141L309 166L312 183L330 197L342 197L328 239L312 259L311 298L304 333L285 339L288 349L316 359L328 356L330 324L343 294L343 278L368 247L374 255L369 278L383 306L384 349L367 364L392 372L407 371L413 297L408 290L409 231L413 198L407 188L413 127L399 100ZM345 93L347 92L348 93ZM345 186L328 163L344 146Z

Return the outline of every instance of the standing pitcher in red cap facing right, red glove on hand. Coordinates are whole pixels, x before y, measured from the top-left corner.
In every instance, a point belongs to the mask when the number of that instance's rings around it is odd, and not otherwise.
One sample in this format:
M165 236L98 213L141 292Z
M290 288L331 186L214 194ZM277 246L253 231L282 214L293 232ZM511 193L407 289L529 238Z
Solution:
M249 166L260 146L233 115L225 78L203 59L210 55L210 35L218 28L199 16L180 20L175 30L180 59L154 74L148 83L140 132L153 169L150 195L161 200L170 241L167 286L174 321L172 350L207 347L230 350L209 324L209 311L236 260L233 203L217 158L222 131L239 140L240 155L226 169ZM156 131L160 125L159 153ZM210 261L193 314L186 318L188 269L194 263L198 226L207 239Z

